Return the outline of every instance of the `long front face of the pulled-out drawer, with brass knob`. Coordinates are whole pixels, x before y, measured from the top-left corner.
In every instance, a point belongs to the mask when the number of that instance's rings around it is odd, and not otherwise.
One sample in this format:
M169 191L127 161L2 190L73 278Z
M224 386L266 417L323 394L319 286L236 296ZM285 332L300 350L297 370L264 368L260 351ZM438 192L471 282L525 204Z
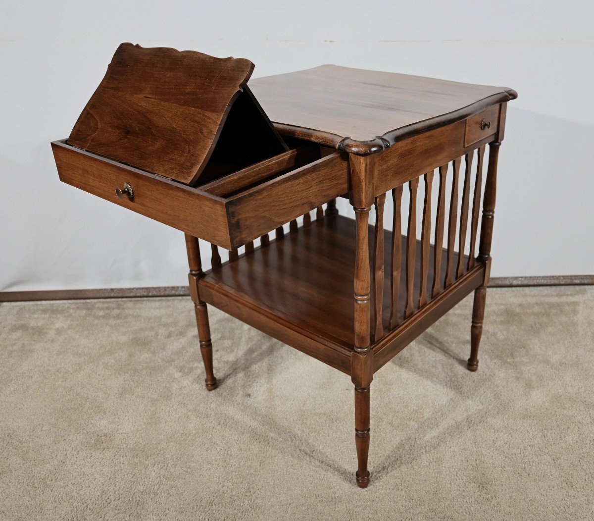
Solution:
M61 181L195 237L230 248L229 225L222 198L60 141L52 143L52 149ZM116 188L123 188L124 183L132 186L133 201L125 195L122 199L116 195Z

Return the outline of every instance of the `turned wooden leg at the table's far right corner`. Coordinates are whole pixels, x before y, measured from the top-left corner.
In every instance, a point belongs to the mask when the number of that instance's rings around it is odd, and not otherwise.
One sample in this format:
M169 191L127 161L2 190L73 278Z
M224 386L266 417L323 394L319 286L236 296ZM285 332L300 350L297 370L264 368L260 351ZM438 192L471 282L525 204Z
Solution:
M493 238L493 221L495 218L495 197L497 195L497 159L501 143L489 144L489 164L486 172L485 196L481 222L481 242L479 244L478 261L485 267L482 285L475 290L475 301L472 308L472 326L470 327L470 358L466 367L476 371L479 367L479 345L481 344L482 324L485 316L486 286L491 274L491 241Z

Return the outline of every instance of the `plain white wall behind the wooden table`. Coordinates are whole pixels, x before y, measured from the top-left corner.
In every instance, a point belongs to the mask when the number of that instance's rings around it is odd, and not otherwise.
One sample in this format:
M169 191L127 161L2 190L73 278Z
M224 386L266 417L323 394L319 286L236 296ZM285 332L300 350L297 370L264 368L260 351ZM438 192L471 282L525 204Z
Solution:
M591 1L1 1L0 291L187 282L181 232L58 181L49 142L120 42L249 58L254 77L333 63L516 89L492 275L594 273Z

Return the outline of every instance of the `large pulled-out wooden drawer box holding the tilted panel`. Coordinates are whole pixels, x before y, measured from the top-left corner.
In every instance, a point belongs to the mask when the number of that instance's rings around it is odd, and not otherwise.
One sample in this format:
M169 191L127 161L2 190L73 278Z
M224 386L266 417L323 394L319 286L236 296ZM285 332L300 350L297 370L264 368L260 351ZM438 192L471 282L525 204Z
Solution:
M197 188L66 140L52 150L61 181L228 250L349 190L346 158L337 151L320 158L318 147L286 151Z

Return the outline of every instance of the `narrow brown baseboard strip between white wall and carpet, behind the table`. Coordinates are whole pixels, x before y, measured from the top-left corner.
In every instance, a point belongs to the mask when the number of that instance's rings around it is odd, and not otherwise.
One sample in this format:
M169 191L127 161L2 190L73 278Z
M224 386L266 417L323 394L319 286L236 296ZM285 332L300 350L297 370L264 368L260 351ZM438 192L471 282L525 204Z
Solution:
M492 277L491 282L489 283L489 288L582 285L594 285L594 275ZM147 298L153 296L189 296L188 286L156 286L153 288L58 289L48 291L0 291L0 302L99 298Z

